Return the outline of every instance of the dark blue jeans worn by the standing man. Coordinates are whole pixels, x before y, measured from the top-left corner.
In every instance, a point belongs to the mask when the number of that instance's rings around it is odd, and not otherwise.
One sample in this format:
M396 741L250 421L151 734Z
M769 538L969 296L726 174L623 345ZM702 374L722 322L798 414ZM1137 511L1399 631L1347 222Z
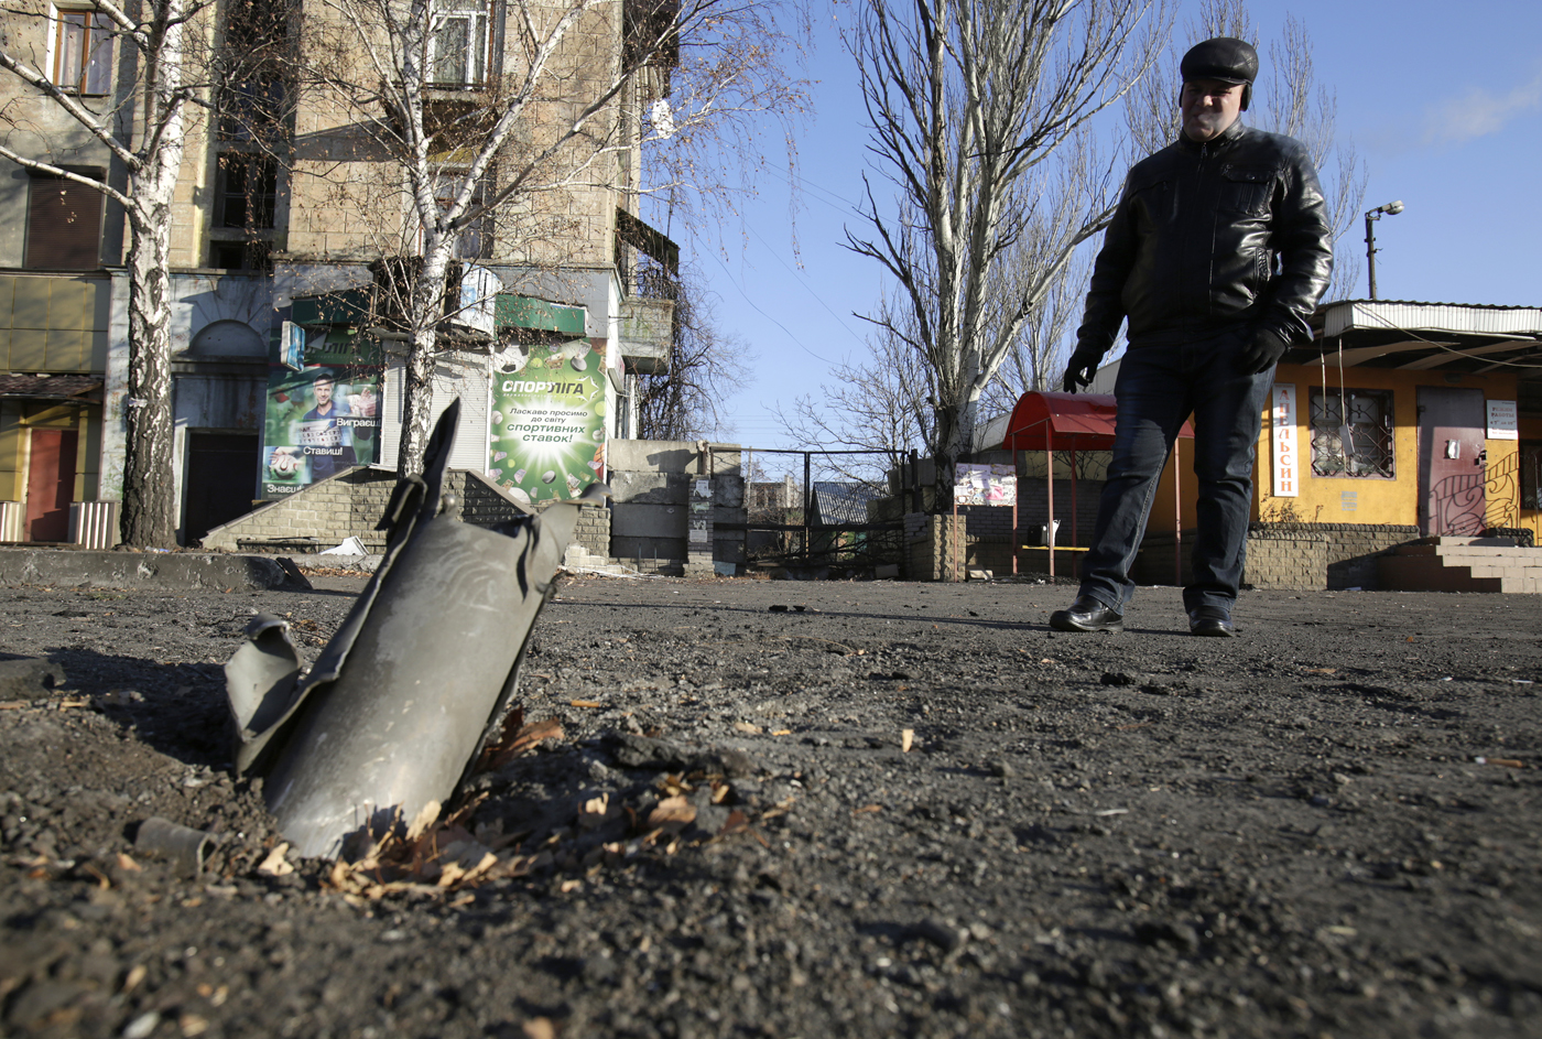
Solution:
M1252 467L1274 368L1237 370L1241 335L1181 347L1130 347L1113 393L1119 416L1098 526L1082 563L1081 593L1123 610L1135 593L1130 566L1146 535L1146 518L1163 466L1183 421L1194 415L1194 470L1200 481L1200 530L1194 540L1194 584L1186 609L1231 609L1247 553Z

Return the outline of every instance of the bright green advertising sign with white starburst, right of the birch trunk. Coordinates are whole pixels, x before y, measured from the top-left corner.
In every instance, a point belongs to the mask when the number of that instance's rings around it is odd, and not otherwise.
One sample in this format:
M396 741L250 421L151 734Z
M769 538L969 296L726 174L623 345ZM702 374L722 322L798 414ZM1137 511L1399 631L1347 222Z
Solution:
M492 385L489 475L515 498L577 498L604 472L604 355L532 347Z

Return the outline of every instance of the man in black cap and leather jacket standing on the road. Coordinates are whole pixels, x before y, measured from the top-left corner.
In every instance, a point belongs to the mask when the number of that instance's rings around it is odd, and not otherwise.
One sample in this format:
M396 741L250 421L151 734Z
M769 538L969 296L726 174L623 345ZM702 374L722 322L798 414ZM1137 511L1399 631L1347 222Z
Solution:
M1274 365L1308 342L1332 233L1306 148L1244 126L1258 54L1218 37L1183 57L1183 129L1138 162L1109 224L1064 388L1092 381L1129 319L1118 422L1081 592L1050 626L1118 632L1130 566L1173 438L1194 415L1198 535L1189 630L1235 634L1252 467Z

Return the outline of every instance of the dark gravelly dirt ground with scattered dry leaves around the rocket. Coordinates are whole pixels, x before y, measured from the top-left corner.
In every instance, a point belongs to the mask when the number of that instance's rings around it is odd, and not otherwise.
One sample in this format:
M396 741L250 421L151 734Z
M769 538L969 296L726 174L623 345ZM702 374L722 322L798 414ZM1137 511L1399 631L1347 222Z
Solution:
M330 584L0 589L57 666L0 681L3 1034L1542 1036L1537 597L1200 640L1175 589L1078 635L1029 581L572 578L446 820L339 866L222 675Z

